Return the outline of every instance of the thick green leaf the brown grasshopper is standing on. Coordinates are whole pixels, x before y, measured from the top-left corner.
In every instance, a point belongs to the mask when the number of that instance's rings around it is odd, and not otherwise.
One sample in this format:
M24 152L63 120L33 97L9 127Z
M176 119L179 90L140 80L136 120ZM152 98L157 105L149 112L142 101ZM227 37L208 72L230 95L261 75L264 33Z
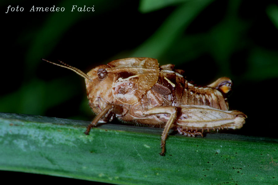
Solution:
M115 184L277 184L278 140L0 113L0 169Z

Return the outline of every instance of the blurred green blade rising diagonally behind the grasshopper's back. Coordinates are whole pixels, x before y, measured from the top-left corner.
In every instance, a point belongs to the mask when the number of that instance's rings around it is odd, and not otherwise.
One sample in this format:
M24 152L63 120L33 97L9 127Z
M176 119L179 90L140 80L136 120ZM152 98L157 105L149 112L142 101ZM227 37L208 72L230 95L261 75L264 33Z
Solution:
M212 0L189 1L177 7L171 15L163 22L158 30L142 43L131 56L148 56L159 59L168 49L192 20L203 10Z

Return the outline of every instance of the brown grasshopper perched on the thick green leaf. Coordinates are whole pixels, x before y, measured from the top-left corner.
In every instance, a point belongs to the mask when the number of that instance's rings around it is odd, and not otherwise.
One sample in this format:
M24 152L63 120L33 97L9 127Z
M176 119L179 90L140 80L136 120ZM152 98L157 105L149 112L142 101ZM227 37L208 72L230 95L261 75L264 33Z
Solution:
M244 113L229 111L225 95L232 81L227 77L197 87L185 80L183 70L174 69L173 64L159 67L152 58L113 60L87 74L63 62L44 61L85 78L89 105L98 114L85 134L98 122L107 123L114 117L162 127L160 155L164 155L170 129L184 136L203 137L205 130L239 129L245 123Z

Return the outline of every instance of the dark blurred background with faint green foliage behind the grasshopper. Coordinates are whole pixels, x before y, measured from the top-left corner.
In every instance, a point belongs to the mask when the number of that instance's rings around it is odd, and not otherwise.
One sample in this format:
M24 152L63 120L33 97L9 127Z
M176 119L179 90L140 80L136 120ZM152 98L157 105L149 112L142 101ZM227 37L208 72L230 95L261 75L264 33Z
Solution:
M234 81L231 109L248 115L239 134L273 125L278 102L278 6L275 1L2 1L0 111L91 120L84 80L40 60L64 61L84 72L126 57L153 57L185 70L206 85L220 76ZM9 12L6 7L24 7ZM71 12L72 6L94 12ZM30 12L64 7L61 12ZM272 96L275 96L273 94Z

